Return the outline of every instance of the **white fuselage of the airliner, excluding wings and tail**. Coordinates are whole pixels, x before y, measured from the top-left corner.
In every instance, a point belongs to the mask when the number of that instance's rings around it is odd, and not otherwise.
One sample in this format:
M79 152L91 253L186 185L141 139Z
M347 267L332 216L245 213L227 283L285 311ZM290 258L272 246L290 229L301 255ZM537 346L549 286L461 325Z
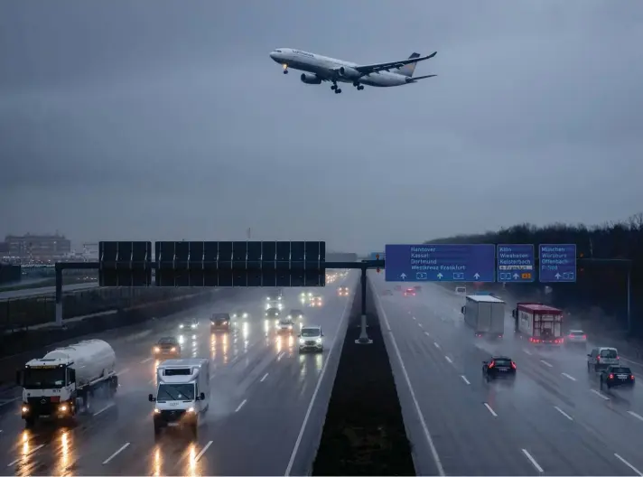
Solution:
M271 53L270 57L285 68L301 70L312 73L320 79L327 81L338 81L343 83L355 83L356 79L348 79L338 76L333 72L340 67L359 66L358 63L338 60L328 56L322 56L308 51L281 48ZM390 71L377 71L361 76L357 81L360 84L387 88L391 86L402 86L413 82L410 78Z

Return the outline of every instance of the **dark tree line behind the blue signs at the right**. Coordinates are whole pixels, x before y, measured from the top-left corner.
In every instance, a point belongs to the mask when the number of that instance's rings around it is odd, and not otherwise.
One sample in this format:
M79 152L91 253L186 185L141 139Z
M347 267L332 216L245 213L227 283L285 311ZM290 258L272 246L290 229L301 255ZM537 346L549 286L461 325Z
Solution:
M588 308L598 306L613 316L616 326L627 325L628 273L633 332L643 336L643 212L628 220L588 227L583 224L554 223L544 227L523 223L482 234L428 240L425 243L454 244L576 244L578 254L575 284L551 286L551 301L556 306ZM625 261L604 261L625 259ZM629 260L629 261L627 261ZM508 284L521 292L543 295L545 284ZM522 293L522 295L526 295Z

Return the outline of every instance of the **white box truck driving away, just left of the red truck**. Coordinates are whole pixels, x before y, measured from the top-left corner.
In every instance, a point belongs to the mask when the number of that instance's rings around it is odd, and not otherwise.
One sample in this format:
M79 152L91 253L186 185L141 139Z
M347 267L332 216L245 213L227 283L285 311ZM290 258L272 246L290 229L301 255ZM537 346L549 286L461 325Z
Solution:
M462 306L464 323L478 337L502 338L505 334L505 302L491 295L467 295Z

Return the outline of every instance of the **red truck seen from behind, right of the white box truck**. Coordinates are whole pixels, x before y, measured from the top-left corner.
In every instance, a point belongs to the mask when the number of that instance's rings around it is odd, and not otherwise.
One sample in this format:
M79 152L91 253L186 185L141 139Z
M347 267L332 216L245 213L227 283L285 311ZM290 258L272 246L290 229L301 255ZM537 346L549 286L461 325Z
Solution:
M538 345L564 344L563 311L547 304L518 303L511 312L520 338Z

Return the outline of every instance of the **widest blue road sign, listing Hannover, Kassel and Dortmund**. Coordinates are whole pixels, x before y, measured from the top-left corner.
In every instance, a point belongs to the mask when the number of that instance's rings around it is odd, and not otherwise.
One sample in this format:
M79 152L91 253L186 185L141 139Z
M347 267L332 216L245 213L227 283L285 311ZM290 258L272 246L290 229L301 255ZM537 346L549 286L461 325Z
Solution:
M495 282L493 244L387 245L387 282Z

